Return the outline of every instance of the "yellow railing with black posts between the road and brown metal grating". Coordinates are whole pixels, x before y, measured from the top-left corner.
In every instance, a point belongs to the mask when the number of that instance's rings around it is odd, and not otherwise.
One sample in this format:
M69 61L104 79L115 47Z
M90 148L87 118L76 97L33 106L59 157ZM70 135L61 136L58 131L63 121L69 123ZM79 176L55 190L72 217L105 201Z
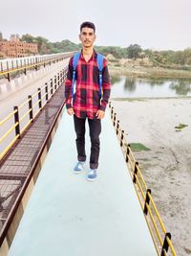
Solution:
M36 115L45 105L48 104L49 100L53 97L54 92L65 80L67 70L68 68L66 67L62 71L58 72L57 75L54 76L54 79L46 82L45 85L41 88L38 88L37 92L34 94L29 95L28 100L23 104L15 105L13 107L13 111L2 121L0 121L0 128L5 125L11 126L6 128L6 132L2 137L0 137L0 144L7 139L3 151L0 152L0 160L11 149L11 146L14 144L14 142L20 138L21 134L26 130L26 128L29 127ZM15 135L12 133L13 130L15 131ZM10 135L11 138L8 138Z

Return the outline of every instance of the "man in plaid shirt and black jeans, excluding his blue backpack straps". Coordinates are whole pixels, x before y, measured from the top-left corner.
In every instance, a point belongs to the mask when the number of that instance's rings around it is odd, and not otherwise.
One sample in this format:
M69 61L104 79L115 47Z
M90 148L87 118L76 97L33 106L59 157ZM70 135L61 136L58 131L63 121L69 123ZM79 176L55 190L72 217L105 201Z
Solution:
M96 27L92 22L83 22L80 26L79 39L82 50L75 68L75 93L73 95L74 57L69 61L67 80L65 82L66 107L69 115L74 115L74 129L76 132L77 160L74 173L79 174L86 161L85 152L85 122L88 119L91 137L90 171L87 180L96 179L99 157L99 134L101 119L105 115L105 108L110 97L111 84L107 67L107 60L102 61L102 96L99 89L99 69L97 53L94 49Z

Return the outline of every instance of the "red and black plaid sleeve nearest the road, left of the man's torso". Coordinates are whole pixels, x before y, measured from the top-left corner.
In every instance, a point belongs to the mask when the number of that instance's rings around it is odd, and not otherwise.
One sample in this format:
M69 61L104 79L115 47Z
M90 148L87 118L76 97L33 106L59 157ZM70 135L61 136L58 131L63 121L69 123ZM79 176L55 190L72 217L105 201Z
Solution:
M65 104L66 108L71 108L72 106L72 83L73 83L73 57L70 58L68 65L68 73L65 81Z

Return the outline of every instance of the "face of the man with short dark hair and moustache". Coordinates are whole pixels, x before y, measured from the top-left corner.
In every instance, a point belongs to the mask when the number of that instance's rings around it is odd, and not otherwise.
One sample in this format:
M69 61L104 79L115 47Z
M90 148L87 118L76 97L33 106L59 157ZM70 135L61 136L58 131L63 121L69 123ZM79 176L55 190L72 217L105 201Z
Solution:
M79 40L81 41L83 47L85 48L92 47L96 40L96 35L94 30L91 28L83 28L80 32Z

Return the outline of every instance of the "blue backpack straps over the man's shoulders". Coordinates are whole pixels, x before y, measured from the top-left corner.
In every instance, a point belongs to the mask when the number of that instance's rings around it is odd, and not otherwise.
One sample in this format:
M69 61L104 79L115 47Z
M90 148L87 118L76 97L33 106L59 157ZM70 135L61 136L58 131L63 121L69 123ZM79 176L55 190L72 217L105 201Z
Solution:
M74 98L74 84L75 84L75 70L77 66L78 59L80 57L80 52L76 53L73 58L73 82L72 82L72 96ZM97 54L96 63L99 71L99 97L101 98L101 86L102 86L102 70L103 70L103 56Z

